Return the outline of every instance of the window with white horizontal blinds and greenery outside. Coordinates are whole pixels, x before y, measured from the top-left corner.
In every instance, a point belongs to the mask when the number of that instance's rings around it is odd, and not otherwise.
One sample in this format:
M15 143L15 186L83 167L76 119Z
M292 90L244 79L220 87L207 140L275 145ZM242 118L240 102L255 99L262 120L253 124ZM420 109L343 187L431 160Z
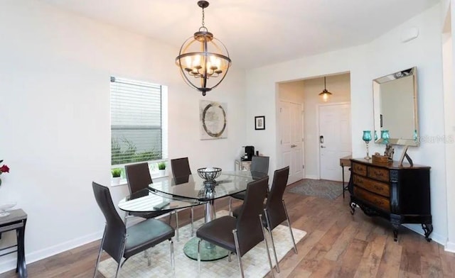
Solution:
M111 165L164 160L166 87L111 77Z

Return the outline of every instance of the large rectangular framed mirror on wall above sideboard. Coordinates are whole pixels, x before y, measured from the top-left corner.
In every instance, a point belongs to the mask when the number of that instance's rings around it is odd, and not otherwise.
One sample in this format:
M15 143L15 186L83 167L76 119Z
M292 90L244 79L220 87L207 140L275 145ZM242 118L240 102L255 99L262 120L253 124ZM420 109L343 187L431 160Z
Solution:
M381 134L388 130L392 145L419 145L417 121L417 67L373 80L375 143L387 143Z

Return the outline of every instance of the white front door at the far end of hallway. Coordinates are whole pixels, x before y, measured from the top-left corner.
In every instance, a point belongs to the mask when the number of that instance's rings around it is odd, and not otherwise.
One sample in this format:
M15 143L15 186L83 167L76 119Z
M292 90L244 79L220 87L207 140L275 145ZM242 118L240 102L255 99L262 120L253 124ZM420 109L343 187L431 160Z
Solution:
M341 181L340 158L350 154L350 104L319 106L321 179Z

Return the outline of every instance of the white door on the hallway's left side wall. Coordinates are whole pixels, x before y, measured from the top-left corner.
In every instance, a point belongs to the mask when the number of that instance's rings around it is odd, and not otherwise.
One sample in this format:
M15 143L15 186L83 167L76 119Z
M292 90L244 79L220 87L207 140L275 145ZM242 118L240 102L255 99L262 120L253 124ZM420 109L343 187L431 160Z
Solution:
M303 113L301 104L280 101L282 167L289 165L288 184L304 178Z

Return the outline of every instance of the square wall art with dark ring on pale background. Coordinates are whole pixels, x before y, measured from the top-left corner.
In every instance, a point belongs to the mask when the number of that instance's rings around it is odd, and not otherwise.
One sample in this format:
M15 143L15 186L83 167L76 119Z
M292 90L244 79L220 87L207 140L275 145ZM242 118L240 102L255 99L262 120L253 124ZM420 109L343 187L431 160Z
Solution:
M200 101L200 139L228 138L228 105L216 101Z

